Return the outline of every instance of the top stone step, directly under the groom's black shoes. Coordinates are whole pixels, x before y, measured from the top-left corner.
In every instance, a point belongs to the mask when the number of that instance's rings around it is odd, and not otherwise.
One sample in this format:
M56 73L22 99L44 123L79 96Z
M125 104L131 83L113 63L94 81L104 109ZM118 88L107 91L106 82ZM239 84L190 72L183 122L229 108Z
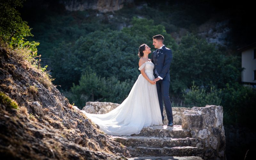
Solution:
M140 131L140 134L137 134L136 136L186 138L191 137L191 133L189 130L182 129L181 125L174 125L173 127L167 125L154 125L144 127Z

